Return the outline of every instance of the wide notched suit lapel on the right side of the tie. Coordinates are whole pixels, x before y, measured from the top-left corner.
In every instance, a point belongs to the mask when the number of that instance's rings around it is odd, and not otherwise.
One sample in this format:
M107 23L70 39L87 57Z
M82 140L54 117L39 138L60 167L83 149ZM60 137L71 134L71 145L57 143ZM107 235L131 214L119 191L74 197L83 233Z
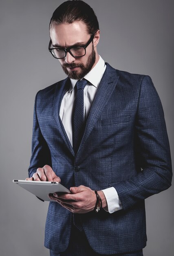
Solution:
M97 121L97 117L101 114L103 108L108 103L108 100L110 99L119 79L119 76L117 75L117 70L112 68L108 63L106 63L106 65L106 70L101 79L101 82L99 83L93 105L90 109L84 136L82 138L79 150L84 145L86 139L90 135L90 132L93 130Z

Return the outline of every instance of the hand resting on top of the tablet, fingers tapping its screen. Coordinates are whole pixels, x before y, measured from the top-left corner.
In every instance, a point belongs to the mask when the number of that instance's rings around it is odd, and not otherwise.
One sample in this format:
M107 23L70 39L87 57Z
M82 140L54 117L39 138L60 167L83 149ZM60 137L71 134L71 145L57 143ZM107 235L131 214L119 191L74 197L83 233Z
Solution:
M26 178L26 180L61 182L60 178L49 165L45 165L43 168L37 168L36 173L31 178Z

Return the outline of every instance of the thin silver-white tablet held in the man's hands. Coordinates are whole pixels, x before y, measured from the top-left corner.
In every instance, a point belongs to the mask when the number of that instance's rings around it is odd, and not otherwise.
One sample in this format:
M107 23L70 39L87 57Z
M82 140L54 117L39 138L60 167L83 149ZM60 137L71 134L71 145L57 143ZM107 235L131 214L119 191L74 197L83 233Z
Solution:
M69 189L66 189L66 187L59 182L33 180L13 180L13 182L21 186L23 189L26 189L27 191L36 195L42 201L55 202L54 200L48 198L49 193L71 193Z

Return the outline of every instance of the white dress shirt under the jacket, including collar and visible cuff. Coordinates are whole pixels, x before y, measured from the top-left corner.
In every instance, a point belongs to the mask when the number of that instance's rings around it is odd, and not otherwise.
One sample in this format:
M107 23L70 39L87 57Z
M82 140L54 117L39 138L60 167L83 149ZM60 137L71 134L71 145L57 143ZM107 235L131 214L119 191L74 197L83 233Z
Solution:
M88 81L87 85L84 88L84 118L85 120L88 118L90 108L93 104L93 100L95 98L95 94L97 92L98 85L101 81L101 78L106 70L106 65L104 60L99 56L99 61L93 67L90 72L84 76L84 79ZM75 103L76 92L74 89L77 80L70 79L71 85L69 90L65 93L62 103L60 106L60 118L62 120L62 124L64 125L64 129L70 140L71 145L73 146L73 109ZM103 189L104 195L106 197L106 201L108 204L109 213L113 213L120 209L123 209L121 205L121 201L119 200L119 196L114 187L110 187L108 189Z

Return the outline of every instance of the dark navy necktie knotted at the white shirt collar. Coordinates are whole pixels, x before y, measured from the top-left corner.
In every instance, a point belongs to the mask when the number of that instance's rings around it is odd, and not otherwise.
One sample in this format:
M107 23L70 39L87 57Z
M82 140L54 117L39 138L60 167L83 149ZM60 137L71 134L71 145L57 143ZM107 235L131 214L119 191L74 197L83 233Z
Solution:
M84 134L84 88L87 84L87 80L79 80L76 83L77 96L75 100L74 108L74 122L73 122L73 148L75 154L79 149L81 139Z

